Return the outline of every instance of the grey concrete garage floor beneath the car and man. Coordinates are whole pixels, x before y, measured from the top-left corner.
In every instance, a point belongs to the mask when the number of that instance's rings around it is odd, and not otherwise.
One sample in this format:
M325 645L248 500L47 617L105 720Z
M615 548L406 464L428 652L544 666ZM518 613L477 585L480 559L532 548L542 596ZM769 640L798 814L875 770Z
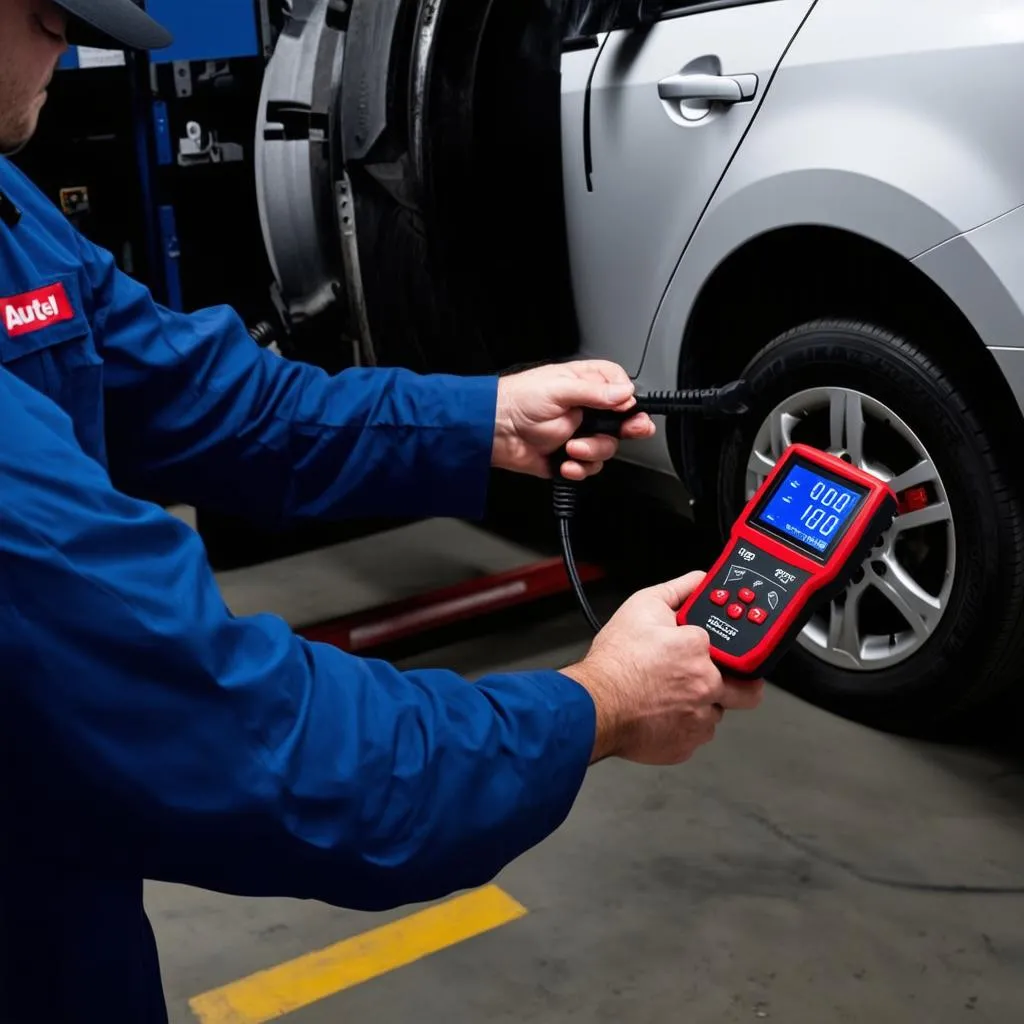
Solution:
M381 551L392 569L375 584ZM437 522L221 583L237 611L301 624L532 557ZM569 608L400 664L558 666L587 639ZM1024 759L882 735L771 688L688 765L598 766L563 828L497 880L523 916L281 1019L1010 1024L1022 808ZM166 885L147 905L174 1024L197 1020L193 996L420 909Z

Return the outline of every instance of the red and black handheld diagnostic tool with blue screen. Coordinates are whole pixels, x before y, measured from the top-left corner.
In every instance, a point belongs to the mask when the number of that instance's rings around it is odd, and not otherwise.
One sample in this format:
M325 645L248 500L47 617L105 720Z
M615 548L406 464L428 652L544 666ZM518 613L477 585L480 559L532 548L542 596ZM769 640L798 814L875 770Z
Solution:
M723 672L771 671L814 610L851 582L892 524L889 485L836 456L786 449L677 622L711 637Z

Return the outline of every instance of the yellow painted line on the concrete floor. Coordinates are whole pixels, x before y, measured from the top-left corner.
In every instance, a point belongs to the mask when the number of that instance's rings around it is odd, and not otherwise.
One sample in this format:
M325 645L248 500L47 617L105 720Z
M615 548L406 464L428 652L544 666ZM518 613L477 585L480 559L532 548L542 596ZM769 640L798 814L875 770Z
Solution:
M188 1005L202 1024L262 1024L525 913L502 889L486 886L212 989Z

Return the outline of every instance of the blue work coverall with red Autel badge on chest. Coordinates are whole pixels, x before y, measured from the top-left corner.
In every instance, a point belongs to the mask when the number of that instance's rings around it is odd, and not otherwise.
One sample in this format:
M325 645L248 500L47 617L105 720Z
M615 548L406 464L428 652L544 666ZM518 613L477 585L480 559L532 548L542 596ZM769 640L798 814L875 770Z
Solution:
M291 364L156 304L4 160L0 190L0 1021L151 1024L143 879L361 909L482 884L563 821L594 707L237 617L129 497L472 517L494 379Z

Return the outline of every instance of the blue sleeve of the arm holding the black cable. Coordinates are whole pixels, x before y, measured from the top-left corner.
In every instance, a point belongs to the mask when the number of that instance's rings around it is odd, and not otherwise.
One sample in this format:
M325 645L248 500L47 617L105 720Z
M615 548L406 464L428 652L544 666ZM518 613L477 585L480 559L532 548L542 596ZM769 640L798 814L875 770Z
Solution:
M482 514L497 378L330 376L261 349L226 306L159 305L109 253L79 245L126 489L270 525Z

